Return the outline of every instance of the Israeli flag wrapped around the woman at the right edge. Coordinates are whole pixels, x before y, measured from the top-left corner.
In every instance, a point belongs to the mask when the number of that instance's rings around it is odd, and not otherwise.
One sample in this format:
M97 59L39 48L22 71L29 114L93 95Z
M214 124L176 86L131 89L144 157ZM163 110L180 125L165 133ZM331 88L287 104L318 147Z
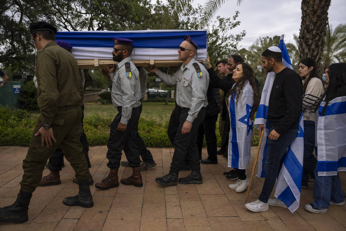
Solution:
M346 171L346 96L322 101L316 112L318 176L334 176Z

